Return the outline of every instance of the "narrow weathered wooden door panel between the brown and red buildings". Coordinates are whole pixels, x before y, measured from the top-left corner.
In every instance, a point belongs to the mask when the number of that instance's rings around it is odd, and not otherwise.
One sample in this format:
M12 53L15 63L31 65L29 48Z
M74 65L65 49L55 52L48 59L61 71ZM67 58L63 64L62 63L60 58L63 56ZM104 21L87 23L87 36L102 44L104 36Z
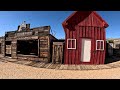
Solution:
M52 63L63 63L64 42L53 42Z

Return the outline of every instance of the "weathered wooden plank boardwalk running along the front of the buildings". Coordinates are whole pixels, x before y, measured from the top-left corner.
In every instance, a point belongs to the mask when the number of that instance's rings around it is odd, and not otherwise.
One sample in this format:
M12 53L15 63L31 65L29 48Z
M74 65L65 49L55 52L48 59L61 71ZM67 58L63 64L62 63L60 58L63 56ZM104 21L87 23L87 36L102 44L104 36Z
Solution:
M111 69L120 67L120 61L104 64L104 65L63 65L63 64L52 64L44 63L38 61L27 61L27 60L17 60L9 58L1 58L0 61L3 62L12 62L16 64L36 67L36 68L46 68L46 69L55 69L55 70L101 70L101 69Z

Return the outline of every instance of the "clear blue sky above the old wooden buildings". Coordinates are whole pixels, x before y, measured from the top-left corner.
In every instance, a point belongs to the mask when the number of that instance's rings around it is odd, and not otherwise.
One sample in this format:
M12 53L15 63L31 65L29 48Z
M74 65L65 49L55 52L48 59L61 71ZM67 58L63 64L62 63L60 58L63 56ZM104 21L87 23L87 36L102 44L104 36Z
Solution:
M17 30L23 21L30 23L30 27L50 25L57 38L64 38L62 22L73 11L0 11L0 36L7 31ZM120 38L120 11L97 11L109 24L106 28L107 38Z

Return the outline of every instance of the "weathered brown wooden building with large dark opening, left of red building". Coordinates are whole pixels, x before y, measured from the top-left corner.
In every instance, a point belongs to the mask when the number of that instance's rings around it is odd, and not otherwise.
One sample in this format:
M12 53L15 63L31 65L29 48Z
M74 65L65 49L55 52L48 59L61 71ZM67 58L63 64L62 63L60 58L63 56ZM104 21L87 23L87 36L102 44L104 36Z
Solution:
M6 32L0 38L0 55L17 59L50 62L52 43L57 40L50 34L50 26L30 28L25 22L16 31Z

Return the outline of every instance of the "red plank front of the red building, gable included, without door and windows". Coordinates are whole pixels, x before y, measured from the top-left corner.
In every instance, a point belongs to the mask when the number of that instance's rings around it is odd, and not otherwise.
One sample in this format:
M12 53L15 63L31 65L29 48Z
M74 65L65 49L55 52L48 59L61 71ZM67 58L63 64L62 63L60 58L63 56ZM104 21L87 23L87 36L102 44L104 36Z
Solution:
M65 30L65 64L104 64L106 50L106 32L95 13L78 12L67 20ZM82 38L91 39L91 59L81 62ZM67 39L76 39L76 49L67 49ZM104 40L104 50L96 50L96 40Z

